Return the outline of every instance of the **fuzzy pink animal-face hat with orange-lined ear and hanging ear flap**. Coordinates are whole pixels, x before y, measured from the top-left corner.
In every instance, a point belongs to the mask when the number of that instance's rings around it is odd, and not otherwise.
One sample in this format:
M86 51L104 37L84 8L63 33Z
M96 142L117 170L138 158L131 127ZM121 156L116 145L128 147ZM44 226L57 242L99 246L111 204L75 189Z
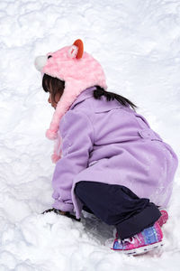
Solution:
M58 138L58 126L61 117L85 89L95 85L107 89L101 64L84 51L84 44L76 40L73 45L63 47L45 56L35 59L35 67L41 74L48 74L65 81L64 92L58 101L46 136Z

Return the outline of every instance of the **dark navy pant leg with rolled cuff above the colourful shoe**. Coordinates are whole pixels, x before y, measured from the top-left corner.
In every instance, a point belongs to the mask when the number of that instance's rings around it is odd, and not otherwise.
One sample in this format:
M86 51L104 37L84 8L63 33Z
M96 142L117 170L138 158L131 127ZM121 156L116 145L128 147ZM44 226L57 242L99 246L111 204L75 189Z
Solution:
M153 226L161 216L154 203L122 185L82 181L76 183L75 193L87 210L114 225L121 239Z

